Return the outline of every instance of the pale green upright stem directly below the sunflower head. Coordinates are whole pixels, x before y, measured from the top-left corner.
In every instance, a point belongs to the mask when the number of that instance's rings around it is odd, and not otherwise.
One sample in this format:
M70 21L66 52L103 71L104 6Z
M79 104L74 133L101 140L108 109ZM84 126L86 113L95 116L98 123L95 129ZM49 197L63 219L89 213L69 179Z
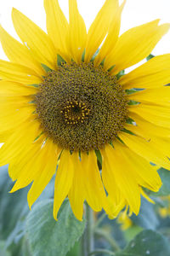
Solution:
M87 226L84 234L82 235L82 256L88 256L94 250L94 212L88 206L86 206L86 219L87 219Z

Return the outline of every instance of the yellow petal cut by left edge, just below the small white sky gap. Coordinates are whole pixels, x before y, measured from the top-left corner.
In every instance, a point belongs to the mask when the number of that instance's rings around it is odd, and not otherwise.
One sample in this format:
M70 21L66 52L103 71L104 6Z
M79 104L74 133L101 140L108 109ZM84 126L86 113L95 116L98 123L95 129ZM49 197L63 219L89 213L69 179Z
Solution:
M0 60L0 79L22 84L40 84L42 79L31 68Z

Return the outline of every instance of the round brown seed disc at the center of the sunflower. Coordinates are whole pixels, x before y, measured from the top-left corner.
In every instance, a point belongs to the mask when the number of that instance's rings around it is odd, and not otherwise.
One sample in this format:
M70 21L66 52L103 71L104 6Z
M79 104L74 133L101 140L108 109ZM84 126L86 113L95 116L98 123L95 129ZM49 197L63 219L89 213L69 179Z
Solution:
M42 130L72 151L103 148L123 129L127 99L116 77L93 63L62 64L35 96Z

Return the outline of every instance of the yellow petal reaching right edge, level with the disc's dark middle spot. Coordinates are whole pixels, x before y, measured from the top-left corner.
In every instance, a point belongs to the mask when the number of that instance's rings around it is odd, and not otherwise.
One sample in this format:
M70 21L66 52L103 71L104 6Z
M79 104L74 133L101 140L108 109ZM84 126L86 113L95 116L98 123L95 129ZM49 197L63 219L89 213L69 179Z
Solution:
M140 103L135 107L129 108L129 112L137 113L139 116L155 125L160 125L167 128L170 126L170 110L167 106L156 106L152 104L146 105Z

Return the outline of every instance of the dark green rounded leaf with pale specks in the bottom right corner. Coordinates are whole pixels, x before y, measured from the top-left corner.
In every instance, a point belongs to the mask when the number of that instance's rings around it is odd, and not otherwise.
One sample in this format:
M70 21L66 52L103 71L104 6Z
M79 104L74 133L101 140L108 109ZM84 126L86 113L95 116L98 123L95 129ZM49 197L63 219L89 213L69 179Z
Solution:
M167 238L152 230L144 230L130 241L122 253L116 256L169 256L170 246Z

